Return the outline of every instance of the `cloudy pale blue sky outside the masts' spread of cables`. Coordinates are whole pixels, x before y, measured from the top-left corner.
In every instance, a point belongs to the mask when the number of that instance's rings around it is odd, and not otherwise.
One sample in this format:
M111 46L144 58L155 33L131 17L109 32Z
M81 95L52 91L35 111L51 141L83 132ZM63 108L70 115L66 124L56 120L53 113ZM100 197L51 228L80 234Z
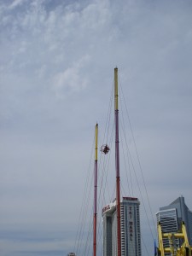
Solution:
M116 66L154 217L192 210L190 0L0 0L0 56L1 256L73 250Z

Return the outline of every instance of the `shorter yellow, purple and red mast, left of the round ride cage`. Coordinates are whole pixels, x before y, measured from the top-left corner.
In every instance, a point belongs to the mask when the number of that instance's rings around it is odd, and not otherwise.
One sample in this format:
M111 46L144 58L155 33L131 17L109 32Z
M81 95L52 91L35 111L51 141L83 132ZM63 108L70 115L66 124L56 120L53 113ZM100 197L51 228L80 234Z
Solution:
M95 129L93 256L96 256L97 139L98 139L98 124L96 124L96 129Z

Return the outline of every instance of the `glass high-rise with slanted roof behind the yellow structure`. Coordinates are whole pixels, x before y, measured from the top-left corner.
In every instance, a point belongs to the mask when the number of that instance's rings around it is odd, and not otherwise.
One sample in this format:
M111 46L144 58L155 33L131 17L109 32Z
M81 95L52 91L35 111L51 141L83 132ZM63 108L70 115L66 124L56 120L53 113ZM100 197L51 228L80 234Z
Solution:
M181 230L182 222L185 223L189 244L192 245L192 212L185 205L184 197L180 196L170 205L160 207L156 213L157 222L160 222L163 233L177 233ZM180 247L182 241L176 239L176 247ZM164 247L169 247L167 238L163 239Z

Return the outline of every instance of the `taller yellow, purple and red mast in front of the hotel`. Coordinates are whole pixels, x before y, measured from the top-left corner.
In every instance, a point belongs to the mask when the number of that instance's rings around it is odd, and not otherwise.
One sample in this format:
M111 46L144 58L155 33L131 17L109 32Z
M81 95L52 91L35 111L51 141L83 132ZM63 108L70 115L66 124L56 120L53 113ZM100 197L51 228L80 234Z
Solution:
M114 119L115 119L115 169L118 256L121 256L120 231L120 175L119 175L119 109L118 109L118 68L114 68Z

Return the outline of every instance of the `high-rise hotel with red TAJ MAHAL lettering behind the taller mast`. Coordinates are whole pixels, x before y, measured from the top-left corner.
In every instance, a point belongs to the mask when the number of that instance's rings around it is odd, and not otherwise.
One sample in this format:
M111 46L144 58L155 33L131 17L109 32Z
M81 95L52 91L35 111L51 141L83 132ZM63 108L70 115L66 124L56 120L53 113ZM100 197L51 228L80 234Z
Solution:
M121 255L141 256L140 202L135 197L120 201ZM102 209L103 256L117 255L116 200Z

